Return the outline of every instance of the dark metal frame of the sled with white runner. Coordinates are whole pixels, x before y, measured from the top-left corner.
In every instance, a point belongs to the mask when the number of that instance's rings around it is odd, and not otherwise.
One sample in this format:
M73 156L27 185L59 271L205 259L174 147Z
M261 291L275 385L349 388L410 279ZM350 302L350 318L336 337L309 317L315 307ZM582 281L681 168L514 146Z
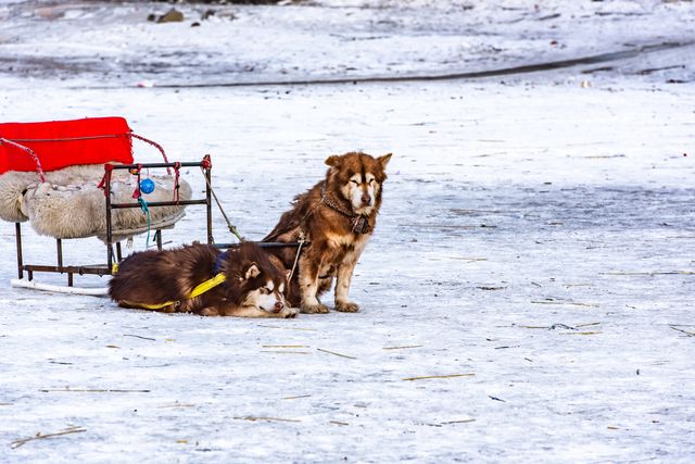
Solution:
M142 168L179 168L179 167L200 167L203 176L205 177L205 197L201 199L180 200L180 201L157 201L149 202L148 208L160 206L173 206L173 205L205 205L206 212L206 233L207 243L216 244L220 249L231 248L237 243L215 243L213 237L213 217L212 217L212 163L210 155L205 155L200 162L188 163L142 163L142 164L105 164L105 214L106 214L106 263L94 265L66 265L63 262L63 239L55 239L55 253L56 264L25 264L22 253L22 224L15 223L15 238L16 238L16 251L17 251L17 279L12 279L13 287L29 288L35 290L53 291L61 293L76 293L76 294L91 294L91 296L105 296L108 289L105 287L75 287L75 275L98 275L109 276L113 273L114 263L118 263L123 260L123 252L121 242L113 241L113 227L112 227L112 212L113 210L126 209L126 208L141 208L138 202L128 203L113 203L111 201L111 175L112 170L142 170ZM162 250L162 229L155 229L154 234L156 240L156 247ZM114 251L115 246L115 251ZM279 248L279 247L299 247L299 243L280 243L280 242L258 242L262 248ZM24 275L26 273L26 279ZM41 284L34 280L34 273L59 273L67 274L67 286L58 286Z

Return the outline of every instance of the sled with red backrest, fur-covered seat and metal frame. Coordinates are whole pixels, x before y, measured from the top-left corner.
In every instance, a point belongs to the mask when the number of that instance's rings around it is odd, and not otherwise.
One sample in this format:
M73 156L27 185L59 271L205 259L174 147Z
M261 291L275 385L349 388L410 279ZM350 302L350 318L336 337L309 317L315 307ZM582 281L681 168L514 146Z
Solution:
M154 146L162 163L135 163L132 140ZM191 198L182 167L200 167L205 196ZM154 188L141 189L144 172ZM121 242L152 231L162 249L162 230L172 228L189 205L205 205L207 242L212 233L212 162L169 162L156 142L136 135L122 117L47 123L0 124L0 218L15 224L17 279L12 286L39 290L105 294L105 288L74 286L76 275L108 276L123 259ZM55 264L24 262L22 223L55 240ZM63 240L98 237L106 248L105 263L68 265ZM115 246L115 250L114 250ZM35 273L67 275L67 286L41 284Z

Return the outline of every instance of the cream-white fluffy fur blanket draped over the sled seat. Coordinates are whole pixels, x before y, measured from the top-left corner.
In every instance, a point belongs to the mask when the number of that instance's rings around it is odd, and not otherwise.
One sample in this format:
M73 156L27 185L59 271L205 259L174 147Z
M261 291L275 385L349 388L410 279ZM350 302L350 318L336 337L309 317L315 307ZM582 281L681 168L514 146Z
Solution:
M46 173L40 183L36 173L9 172L0 175L0 218L10 222L29 221L41 235L55 238L97 236L105 241L106 206L104 191L97 186L104 174L102 164L70 166ZM150 176L155 189L143 193L148 202L170 201L174 197L173 176ZM127 171L113 171L111 201L129 203L137 177ZM179 179L179 199L189 200L191 188ZM184 206L150 209L150 228L172 227L184 217ZM148 217L139 208L112 211L114 241L143 233Z

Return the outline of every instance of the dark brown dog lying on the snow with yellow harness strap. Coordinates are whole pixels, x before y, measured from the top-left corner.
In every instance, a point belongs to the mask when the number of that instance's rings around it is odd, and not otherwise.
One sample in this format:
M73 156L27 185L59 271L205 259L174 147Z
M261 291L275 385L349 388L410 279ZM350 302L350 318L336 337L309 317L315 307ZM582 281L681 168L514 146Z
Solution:
M223 283L191 298L195 287L219 273L225 276ZM123 308L294 317L299 310L287 304L283 296L287 277L255 243L244 242L224 253L211 244L193 243L126 258L109 283L109 294Z

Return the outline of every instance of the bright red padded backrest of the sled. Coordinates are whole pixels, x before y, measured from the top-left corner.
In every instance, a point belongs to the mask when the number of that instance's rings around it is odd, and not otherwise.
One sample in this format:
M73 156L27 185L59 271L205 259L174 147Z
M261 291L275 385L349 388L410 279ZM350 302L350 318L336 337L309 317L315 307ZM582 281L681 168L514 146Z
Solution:
M130 128L123 117L0 124L0 138L34 150L46 172L108 161L130 164L132 140L127 134ZM0 174L36 170L36 162L26 151L0 142Z

